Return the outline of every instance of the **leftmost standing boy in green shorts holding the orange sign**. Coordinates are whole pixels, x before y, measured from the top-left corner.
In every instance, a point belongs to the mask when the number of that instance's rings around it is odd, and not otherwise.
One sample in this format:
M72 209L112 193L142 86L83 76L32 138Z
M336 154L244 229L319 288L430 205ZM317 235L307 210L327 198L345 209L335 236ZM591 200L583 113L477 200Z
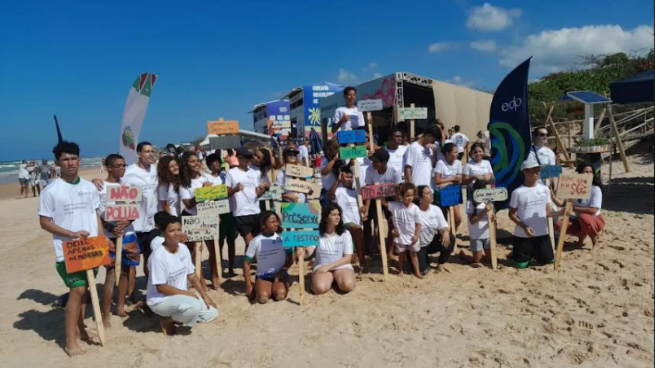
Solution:
M41 229L52 234L55 267L66 287L70 289L65 306L64 350L69 356L77 356L84 352L77 344L78 337L83 341L92 339L92 335L87 333L84 327L88 280L86 271L71 274L66 272L63 246L64 242L69 240L100 234L102 230L102 220L98 215L100 196L92 183L77 175L80 163L80 150L77 144L61 141L52 152L57 165L62 168L62 177L52 181L43 191L43 196L39 200L39 223ZM94 274L97 273L96 268Z

